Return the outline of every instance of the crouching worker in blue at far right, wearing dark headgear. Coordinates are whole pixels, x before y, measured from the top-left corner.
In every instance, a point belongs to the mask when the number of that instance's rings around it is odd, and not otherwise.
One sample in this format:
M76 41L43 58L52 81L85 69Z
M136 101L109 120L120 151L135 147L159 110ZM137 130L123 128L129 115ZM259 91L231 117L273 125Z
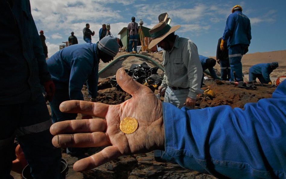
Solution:
M259 79L260 83L272 85L270 73L278 67L278 62L259 63L249 69L249 81Z

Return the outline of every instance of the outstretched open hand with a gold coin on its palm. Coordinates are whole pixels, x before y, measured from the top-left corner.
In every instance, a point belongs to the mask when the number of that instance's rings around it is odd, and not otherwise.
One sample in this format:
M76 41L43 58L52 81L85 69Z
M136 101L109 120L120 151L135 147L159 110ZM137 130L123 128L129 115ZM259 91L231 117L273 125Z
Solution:
M162 103L144 85L134 81L124 69L116 72L119 86L132 98L118 105L88 101L65 101L62 112L84 113L105 118L68 120L54 123L50 132L55 135L52 143L56 147L99 147L102 151L81 159L74 164L75 171L86 171L122 155L164 149L164 125ZM125 134L119 129L120 121L133 117L138 121L134 133Z

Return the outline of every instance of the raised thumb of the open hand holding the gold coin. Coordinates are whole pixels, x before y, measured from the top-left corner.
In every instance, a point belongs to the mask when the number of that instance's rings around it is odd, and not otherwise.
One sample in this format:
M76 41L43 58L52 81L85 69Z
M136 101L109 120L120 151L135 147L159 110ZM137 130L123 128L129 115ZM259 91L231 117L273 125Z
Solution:
M143 90L145 91L146 89L149 89L150 92L153 93L151 91L151 89L148 88L147 86L141 85L140 83L133 80L132 77L127 75L127 73L125 72L125 70L123 68L120 68L117 70L116 81L117 81L118 85L122 88L122 90L131 94L132 96L141 95L142 91Z

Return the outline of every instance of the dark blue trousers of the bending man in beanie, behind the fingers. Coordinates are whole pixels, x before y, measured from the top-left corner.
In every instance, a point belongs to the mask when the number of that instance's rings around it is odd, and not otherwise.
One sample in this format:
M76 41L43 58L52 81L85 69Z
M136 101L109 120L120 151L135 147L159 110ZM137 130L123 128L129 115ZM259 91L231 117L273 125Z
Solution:
M51 102L49 102L52 112L52 123L65 120L74 120L78 114L77 113L63 113L59 110L59 106L64 101L69 101L68 88L66 89L56 89L55 96ZM67 154L78 155L83 152L82 148L68 147Z

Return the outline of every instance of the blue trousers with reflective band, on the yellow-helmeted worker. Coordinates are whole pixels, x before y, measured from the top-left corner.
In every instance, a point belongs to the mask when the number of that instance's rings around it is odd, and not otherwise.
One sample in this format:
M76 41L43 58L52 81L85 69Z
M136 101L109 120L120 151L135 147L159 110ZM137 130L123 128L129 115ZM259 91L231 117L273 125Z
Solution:
M248 45L236 44L230 46L228 49L228 58L231 69L230 81L234 81L234 72L236 74L237 82L243 81L241 58Z

